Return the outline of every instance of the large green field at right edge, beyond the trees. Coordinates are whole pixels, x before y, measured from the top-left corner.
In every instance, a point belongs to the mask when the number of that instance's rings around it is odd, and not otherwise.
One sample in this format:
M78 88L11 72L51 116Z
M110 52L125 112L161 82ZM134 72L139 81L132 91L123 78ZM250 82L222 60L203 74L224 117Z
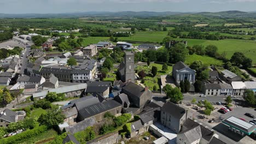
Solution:
M189 46L193 45L216 45L218 52L226 52L227 58L235 52L243 52L249 58L252 58L253 63L256 64L256 41L253 40L238 40L238 39L224 39L224 40L204 40L204 39L177 39L187 40Z

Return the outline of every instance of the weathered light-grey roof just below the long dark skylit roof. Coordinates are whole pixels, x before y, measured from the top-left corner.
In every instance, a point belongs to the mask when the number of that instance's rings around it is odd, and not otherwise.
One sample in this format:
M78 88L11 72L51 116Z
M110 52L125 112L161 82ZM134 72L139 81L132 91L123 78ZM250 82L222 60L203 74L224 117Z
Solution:
M71 125L65 128L65 130L67 131L67 133L74 134L74 133L77 133L78 131L82 131L86 129L87 127L91 127L94 124L96 124L95 119L90 117L90 118L86 118L84 121L81 121L79 123L76 123L74 125Z

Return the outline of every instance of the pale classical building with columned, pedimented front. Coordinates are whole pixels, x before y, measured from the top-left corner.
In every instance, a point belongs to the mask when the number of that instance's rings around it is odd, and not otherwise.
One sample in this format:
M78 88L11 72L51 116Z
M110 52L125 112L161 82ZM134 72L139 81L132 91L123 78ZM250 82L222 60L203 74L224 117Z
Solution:
M177 84L186 79L190 82L190 84L193 84L195 82L195 75L196 71L190 69L188 65L184 64L183 62L178 62L173 65L172 76Z

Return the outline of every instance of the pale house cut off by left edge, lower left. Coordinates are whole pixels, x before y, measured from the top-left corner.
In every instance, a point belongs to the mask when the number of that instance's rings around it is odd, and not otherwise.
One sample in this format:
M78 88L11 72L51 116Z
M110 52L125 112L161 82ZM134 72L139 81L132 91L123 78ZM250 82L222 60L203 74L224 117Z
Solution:
M18 113L5 109L0 113L0 127L8 127L10 123L18 122Z

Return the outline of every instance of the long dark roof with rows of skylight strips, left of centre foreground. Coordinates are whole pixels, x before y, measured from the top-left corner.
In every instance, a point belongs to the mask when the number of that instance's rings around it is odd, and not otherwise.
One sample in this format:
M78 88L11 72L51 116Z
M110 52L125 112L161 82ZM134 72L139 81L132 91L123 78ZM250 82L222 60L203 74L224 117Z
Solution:
M85 107L82 110L78 110L79 116L83 119L95 116L98 113L102 113L104 111L108 111L111 109L114 109L115 107L121 106L117 101L115 100L108 100L104 101L103 103L98 103L94 105L90 105L88 107Z

